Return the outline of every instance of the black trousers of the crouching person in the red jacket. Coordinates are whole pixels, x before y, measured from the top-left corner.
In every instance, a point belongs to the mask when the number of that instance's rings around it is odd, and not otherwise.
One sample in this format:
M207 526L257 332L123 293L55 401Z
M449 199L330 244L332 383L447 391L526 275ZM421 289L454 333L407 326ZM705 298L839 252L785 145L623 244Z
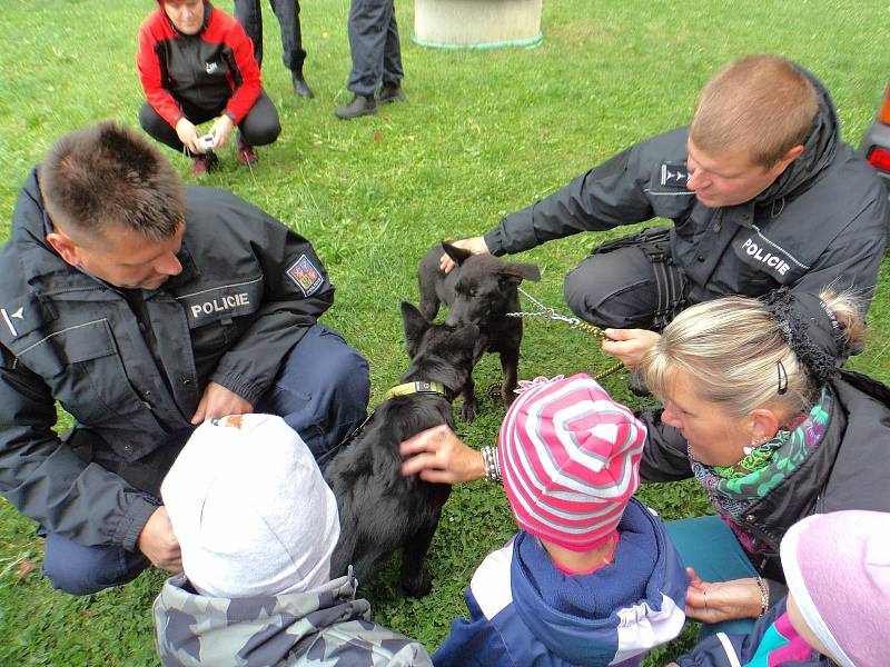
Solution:
M225 107L221 109L201 109L185 102L180 102L179 107L185 117L195 125L218 118L222 113L222 109L225 109ZM139 109L139 125L151 138L169 146L175 151L182 152L185 150L176 130L169 122L158 116L158 112L148 102ZM281 133L278 111L276 111L275 104L271 103L265 91L260 92L250 111L241 119L238 131L241 133L241 141L247 146L266 146L275 141L278 135Z

